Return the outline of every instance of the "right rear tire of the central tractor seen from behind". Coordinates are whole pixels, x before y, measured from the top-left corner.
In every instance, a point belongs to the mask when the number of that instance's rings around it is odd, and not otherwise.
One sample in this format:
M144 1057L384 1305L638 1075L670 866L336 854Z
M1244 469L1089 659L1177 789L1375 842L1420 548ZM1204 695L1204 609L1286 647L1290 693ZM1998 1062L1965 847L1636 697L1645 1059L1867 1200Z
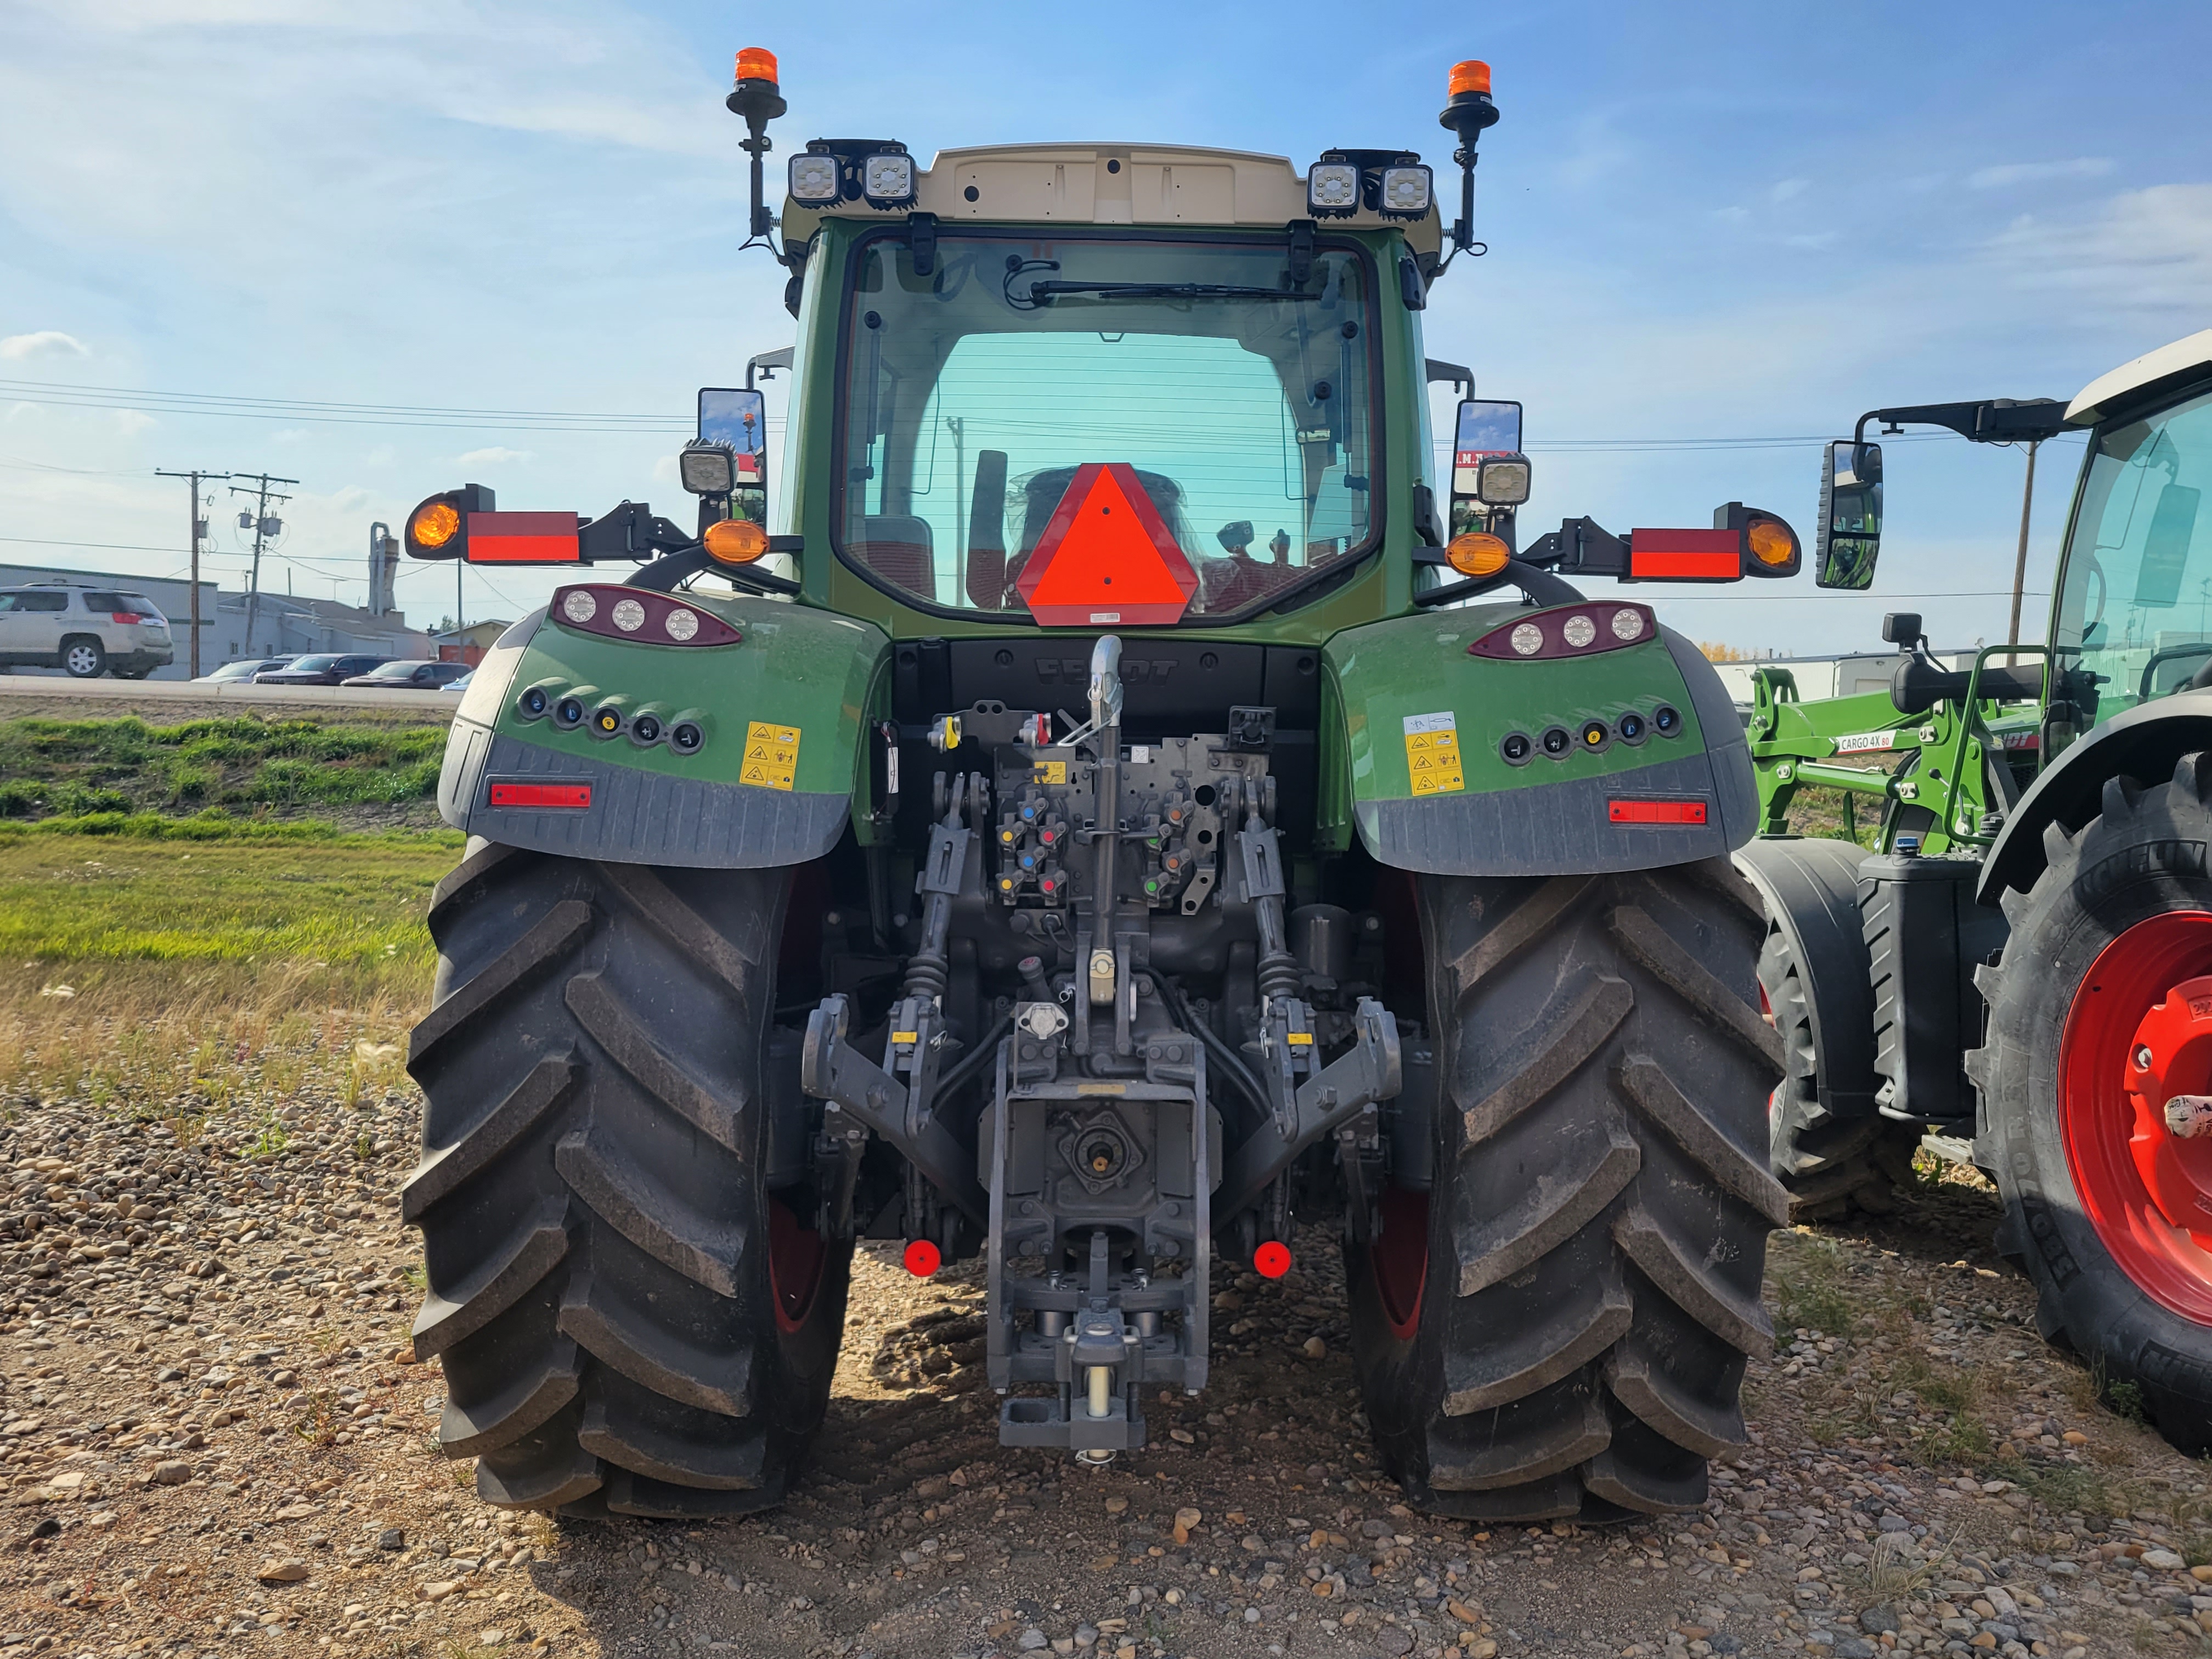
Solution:
M1367 1416L1409 1502L1482 1522L1697 1509L1745 1442L1787 1197L1763 909L1728 860L1420 878L1429 1192L1347 1252Z

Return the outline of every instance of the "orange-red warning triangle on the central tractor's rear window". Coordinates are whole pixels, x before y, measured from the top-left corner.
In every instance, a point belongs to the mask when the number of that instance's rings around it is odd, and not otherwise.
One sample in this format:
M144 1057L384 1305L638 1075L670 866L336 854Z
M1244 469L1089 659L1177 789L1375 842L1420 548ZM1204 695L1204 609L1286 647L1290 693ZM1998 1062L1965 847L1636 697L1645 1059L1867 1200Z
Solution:
M1179 622L1199 575L1124 460L1086 462L1068 480L1015 591L1046 628Z

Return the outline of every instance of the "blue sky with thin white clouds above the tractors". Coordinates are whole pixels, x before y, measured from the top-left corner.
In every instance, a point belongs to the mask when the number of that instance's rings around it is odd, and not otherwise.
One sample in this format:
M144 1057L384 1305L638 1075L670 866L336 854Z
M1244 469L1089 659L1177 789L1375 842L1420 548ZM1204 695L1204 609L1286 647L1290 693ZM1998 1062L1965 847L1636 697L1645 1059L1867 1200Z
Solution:
M462 478L502 507L681 515L681 434L192 414L161 394L666 416L790 341L739 254L730 53L768 44L812 135L938 148L1113 137L1413 146L1489 58L1489 257L1436 290L1429 354L1528 407L1524 524L1809 531L1818 434L1882 403L2070 398L2212 325L2212 11L2172 4L911 4L11 0L0 7L0 562L181 566L184 484L299 478L272 586L358 602L369 520ZM62 394L55 385L122 387ZM427 425L442 422L442 425ZM597 422L619 425L619 422ZM1438 427L1449 429L1442 398ZM1650 449L1650 438L1794 440ZM1604 440L1604 445L1599 445ZM1553 447L1553 445L1575 447ZM1599 445L1599 447L1593 447ZM2048 588L2079 442L2039 462ZM1739 648L2004 633L2022 456L1887 451L1874 595L1809 580L1666 597ZM215 568L241 568L217 513ZM35 538L35 540L33 540ZM62 542L75 542L77 551ZM95 546L106 544L106 546ZM168 551L175 549L175 551ZM469 615L549 582L469 577ZM451 573L411 566L414 619ZM1644 597L1655 591L1646 588ZM1900 597L1960 595L1960 597ZM2039 599L2026 635L2042 635Z

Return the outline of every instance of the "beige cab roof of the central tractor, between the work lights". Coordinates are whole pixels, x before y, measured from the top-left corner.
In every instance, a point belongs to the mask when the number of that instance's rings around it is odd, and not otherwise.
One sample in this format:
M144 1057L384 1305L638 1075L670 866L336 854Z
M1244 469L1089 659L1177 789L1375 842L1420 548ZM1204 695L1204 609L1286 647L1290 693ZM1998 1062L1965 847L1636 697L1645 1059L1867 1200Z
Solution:
M865 201L830 206L783 201L783 237L805 241L827 219L900 219L909 208ZM938 150L914 175L911 212L945 223L1075 226L1287 226L1312 217L1305 175L1281 155L1212 150L1192 144L989 144ZM1436 206L1422 219L1385 219L1360 208L1325 219L1321 230L1400 228L1416 252L1442 248Z

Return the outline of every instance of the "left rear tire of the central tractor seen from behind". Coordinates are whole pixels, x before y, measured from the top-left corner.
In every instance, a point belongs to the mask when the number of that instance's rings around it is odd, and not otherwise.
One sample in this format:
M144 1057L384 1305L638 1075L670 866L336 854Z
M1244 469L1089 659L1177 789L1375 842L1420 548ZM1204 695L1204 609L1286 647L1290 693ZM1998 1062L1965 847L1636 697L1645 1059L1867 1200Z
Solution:
M849 1243L768 1192L785 869L476 843L438 883L403 1214L438 1438L504 1509L783 1500L830 1398Z

